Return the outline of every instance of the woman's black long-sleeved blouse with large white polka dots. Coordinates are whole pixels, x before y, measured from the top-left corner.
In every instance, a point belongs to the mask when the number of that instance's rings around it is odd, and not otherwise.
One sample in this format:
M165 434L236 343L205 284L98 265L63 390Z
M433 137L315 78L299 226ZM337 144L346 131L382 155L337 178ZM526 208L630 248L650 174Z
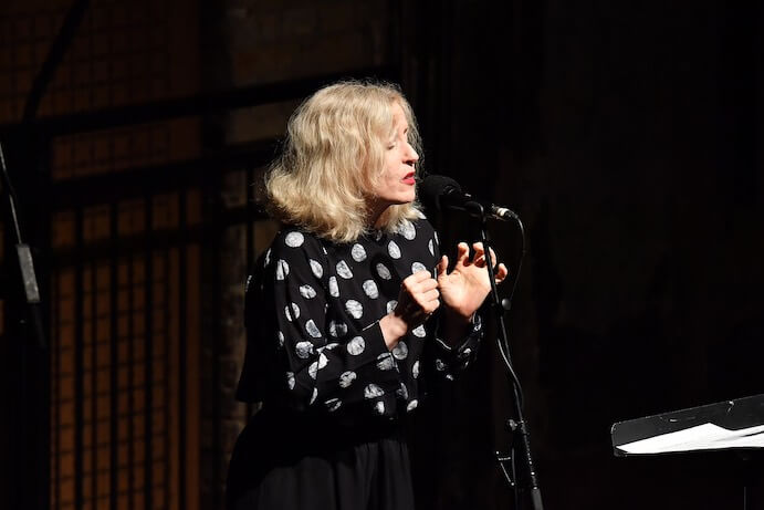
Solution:
M335 416L414 410L426 379L452 378L482 339L478 320L451 348L431 319L388 351L379 320L396 306L402 280L433 273L439 259L437 233L423 218L342 244L283 228L248 279L237 397Z

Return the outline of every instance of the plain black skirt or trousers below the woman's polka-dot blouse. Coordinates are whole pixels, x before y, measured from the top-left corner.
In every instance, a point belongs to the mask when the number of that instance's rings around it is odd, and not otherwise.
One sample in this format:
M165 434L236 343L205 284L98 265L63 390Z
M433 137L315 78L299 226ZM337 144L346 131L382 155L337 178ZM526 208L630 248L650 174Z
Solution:
M258 413L233 449L229 510L412 510L402 424Z

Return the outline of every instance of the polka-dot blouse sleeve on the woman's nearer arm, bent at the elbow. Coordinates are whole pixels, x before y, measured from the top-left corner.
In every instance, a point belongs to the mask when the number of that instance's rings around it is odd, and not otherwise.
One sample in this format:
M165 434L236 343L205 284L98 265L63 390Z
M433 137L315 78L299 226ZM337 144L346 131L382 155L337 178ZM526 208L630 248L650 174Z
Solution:
M291 231L276 237L268 259L263 298L274 304L268 319L278 342L276 370L286 385L284 404L333 412L395 392L398 372L379 370L391 354L378 320L344 337L327 334L328 268L321 243Z

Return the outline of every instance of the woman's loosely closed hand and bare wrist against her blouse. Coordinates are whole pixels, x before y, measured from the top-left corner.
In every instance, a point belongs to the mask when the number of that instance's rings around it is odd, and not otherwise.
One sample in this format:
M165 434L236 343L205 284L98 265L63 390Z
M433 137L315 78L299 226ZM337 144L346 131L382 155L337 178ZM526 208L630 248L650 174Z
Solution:
M379 327L387 348L393 348L409 331L422 324L438 306L438 281L428 271L417 271L400 284L398 304L381 318Z

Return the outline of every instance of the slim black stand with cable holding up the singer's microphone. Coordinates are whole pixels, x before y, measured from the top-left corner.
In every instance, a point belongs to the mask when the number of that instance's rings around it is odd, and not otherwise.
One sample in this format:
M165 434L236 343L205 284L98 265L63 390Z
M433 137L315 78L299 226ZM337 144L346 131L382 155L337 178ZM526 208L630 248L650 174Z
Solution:
M464 204L463 209L480 220L480 240L483 243L483 249L485 250L485 269L489 272L489 281L491 282L491 301L489 308L491 309L491 312L495 319L498 330L496 344L499 346L499 352L502 355L502 360L504 361L504 365L506 366L510 384L512 385L514 393L514 415L512 418L506 420L506 428L511 434L510 451L507 454L496 451L496 460L502 473L504 475L504 478L510 483L510 487L514 489L515 510L523 508L521 498L521 492L523 489L521 487L521 480L527 485L527 488L530 488L531 504L533 510L543 510L544 504L542 503L538 479L535 468L533 467L533 458L531 456L530 433L527 430L525 417L523 416L523 389L510 357L510 344L504 323L504 314L512 308L512 298L514 296L514 291L517 287L520 271L523 266L523 258L525 257L525 229L523 227L523 222L515 215L513 219L517 222L517 227L520 228L522 237L522 252L510 296L504 301L501 301L496 290L496 281L494 279L493 269L494 261L491 257L491 246L488 236L489 216L483 205L477 201L469 201ZM522 469L522 471L519 472L519 469Z

